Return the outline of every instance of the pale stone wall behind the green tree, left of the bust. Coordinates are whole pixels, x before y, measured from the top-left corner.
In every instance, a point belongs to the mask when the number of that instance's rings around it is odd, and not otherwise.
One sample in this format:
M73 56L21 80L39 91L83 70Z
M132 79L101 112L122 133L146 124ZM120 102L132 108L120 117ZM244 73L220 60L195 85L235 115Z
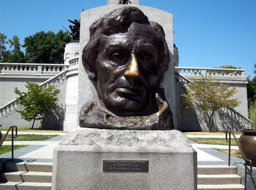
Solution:
M52 75L38 75L38 76L26 76L17 73L13 75L1 75L0 74L0 101L1 106L9 103L13 99L17 98L17 95L13 92L14 87L18 87L20 91L27 91L25 84L26 82L35 82L36 84L42 84ZM54 77L54 76L53 76ZM56 89L60 89L60 93L58 94L58 106L53 112L47 113L44 119L35 122L35 128L50 128L50 129L63 129L63 121L65 114L65 98L66 98L66 80L54 80L52 82L53 85L56 86ZM1 107L0 106L0 107ZM11 108L7 108L6 112L1 112L0 115L0 124L4 128L8 128L10 126L18 126L18 128L30 128L32 125L32 121L28 122L21 118L20 113L15 112L15 110L22 110L23 108L20 106L11 106Z

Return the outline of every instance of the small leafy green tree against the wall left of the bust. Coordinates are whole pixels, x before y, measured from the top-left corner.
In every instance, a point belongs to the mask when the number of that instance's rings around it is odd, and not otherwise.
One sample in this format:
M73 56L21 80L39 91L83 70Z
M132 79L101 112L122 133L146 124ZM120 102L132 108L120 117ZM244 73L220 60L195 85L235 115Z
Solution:
M55 89L53 85L47 87L39 86L35 83L27 82L28 92L20 92L17 87L14 92L19 95L17 104L24 106L24 110L17 110L26 121L32 121L31 129L34 128L35 120L42 119L44 113L50 112L56 106L58 101L57 94L60 90Z

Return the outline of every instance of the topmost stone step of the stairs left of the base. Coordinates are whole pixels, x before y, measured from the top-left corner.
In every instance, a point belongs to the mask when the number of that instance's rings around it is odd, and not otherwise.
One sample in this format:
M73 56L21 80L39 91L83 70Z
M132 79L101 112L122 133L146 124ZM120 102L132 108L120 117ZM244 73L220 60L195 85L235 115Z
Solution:
M38 163L38 162L21 162L21 163L6 163L6 170L12 172L26 171L26 172L52 172L52 163Z

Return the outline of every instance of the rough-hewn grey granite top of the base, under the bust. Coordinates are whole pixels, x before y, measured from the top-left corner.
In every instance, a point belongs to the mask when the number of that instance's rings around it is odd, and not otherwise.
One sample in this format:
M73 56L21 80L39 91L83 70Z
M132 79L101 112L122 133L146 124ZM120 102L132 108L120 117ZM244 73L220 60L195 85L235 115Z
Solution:
M193 151L188 138L177 130L138 131L78 129L63 136L60 145L117 147L168 147L178 152ZM180 149L182 147L182 149Z

